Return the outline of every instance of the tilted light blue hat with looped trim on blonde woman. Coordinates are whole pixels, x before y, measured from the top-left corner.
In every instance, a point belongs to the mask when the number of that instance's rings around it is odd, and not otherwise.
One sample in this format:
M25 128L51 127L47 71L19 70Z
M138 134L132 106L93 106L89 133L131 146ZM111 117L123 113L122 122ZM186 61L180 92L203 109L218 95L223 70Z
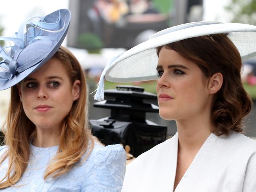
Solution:
M10 44L0 47L0 90L19 83L46 63L63 42L69 22L70 11L60 9L26 19L13 37L0 37Z

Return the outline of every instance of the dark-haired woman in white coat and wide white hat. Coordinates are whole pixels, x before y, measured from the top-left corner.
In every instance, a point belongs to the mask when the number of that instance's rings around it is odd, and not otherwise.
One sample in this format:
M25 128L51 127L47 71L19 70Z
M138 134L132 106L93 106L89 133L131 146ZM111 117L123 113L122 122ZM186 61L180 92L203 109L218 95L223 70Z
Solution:
M153 79L154 68L160 116L178 130L127 166L122 192L256 191L256 141L241 134L252 101L240 76L241 56L255 55L255 31L243 24L176 26L105 70L110 81L139 81Z

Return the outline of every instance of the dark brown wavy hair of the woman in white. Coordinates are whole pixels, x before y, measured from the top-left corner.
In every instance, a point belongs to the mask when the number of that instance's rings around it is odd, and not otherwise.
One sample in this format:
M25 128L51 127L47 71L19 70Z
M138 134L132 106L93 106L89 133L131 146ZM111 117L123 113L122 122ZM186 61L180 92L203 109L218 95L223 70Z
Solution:
M157 48L157 54L163 46ZM241 56L227 34L193 37L164 45L195 62L203 74L210 78L220 72L223 85L215 94L211 118L216 135L228 134L230 130L243 131L243 118L252 108L252 100L241 82Z

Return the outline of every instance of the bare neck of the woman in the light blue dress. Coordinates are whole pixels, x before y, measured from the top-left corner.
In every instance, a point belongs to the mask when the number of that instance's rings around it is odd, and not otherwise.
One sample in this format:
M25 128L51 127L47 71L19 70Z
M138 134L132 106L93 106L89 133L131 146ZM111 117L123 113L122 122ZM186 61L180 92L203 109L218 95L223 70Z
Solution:
M36 137L33 139L32 144L36 147L46 148L58 146L60 142L61 128L39 128L36 127Z

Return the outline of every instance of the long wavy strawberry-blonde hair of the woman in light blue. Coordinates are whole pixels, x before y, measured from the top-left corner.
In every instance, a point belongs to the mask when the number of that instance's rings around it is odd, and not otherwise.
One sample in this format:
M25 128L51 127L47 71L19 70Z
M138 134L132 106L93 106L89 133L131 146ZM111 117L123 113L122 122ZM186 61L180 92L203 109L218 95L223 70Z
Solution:
M71 85L81 81L80 97L74 101L66 116L60 135L58 152L47 166L44 179L56 178L72 169L83 155L85 160L93 150L95 138L88 126L87 87L80 63L65 47L60 47L53 58L59 59L67 70ZM30 142L36 136L35 125L24 113L17 86L11 87L11 101L4 129L4 142L8 146L0 164L9 158L6 175L0 180L0 189L13 186L22 177L30 157ZM4 181L6 180L6 181Z

